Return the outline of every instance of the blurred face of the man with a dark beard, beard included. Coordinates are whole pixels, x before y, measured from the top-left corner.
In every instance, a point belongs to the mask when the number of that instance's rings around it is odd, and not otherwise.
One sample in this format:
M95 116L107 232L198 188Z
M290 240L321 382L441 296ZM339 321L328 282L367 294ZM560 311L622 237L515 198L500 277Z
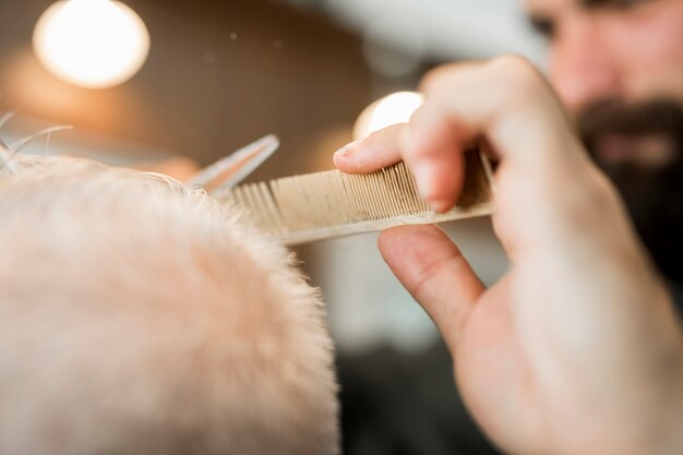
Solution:
M525 1L591 156L683 282L683 0Z

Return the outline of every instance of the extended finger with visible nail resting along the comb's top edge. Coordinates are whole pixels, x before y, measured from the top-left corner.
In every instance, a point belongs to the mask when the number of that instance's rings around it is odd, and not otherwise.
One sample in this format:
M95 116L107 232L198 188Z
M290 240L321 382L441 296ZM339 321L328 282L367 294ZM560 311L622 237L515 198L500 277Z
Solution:
M346 145L334 154L335 166L346 173L369 173L399 161L403 128L403 123L395 124Z

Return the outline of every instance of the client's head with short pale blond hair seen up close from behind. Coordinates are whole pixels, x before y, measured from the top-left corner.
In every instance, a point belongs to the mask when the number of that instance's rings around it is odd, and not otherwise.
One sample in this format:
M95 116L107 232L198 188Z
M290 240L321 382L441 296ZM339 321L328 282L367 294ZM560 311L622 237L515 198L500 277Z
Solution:
M316 292L161 176L0 149L0 453L335 454Z

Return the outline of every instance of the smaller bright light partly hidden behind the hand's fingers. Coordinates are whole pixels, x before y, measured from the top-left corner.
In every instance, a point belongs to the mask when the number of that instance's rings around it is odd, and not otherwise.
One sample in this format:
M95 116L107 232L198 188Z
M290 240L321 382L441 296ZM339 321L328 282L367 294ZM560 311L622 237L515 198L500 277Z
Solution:
M415 92L398 92L373 103L358 118L354 128L356 140L396 123L406 123L418 110L424 97Z

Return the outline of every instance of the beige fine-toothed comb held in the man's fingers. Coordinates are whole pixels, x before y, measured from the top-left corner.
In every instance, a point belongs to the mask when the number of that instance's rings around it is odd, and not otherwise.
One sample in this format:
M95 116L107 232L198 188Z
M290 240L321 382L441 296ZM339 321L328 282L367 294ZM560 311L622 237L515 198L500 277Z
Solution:
M457 205L444 214L432 212L419 196L403 163L363 176L332 170L249 183L217 199L244 207L252 223L286 244L490 214L491 185L484 158L477 151L465 157L463 192Z

